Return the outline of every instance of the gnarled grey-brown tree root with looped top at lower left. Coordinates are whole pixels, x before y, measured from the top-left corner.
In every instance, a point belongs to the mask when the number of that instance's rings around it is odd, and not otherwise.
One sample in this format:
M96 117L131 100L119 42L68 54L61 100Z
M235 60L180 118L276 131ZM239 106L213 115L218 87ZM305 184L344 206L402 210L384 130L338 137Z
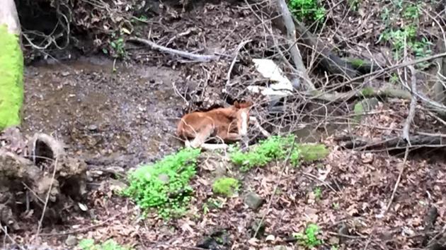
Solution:
M34 210L39 217L45 213L47 220L44 222L60 221L63 219L62 208L72 200L79 201L86 194L85 162L69 157L62 143L55 138L43 133L35 134L28 145L29 157L8 149L0 148L2 225L18 230L18 221L14 218L21 217L21 213L28 210ZM16 203L26 204L26 208L17 207Z

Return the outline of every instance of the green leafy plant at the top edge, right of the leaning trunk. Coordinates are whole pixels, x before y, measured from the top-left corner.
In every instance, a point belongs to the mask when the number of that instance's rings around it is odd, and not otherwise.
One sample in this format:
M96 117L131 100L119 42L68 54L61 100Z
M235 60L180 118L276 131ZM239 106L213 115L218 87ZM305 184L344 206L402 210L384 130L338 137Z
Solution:
M301 21L323 21L326 16L326 10L318 0L290 0L288 6Z

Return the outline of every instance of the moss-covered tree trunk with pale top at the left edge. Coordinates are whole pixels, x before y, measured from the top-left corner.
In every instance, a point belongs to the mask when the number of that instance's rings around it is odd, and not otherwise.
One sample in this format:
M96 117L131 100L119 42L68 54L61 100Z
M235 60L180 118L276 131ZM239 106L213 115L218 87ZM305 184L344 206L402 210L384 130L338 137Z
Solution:
M23 52L21 25L14 0L0 8L0 131L21 124Z

